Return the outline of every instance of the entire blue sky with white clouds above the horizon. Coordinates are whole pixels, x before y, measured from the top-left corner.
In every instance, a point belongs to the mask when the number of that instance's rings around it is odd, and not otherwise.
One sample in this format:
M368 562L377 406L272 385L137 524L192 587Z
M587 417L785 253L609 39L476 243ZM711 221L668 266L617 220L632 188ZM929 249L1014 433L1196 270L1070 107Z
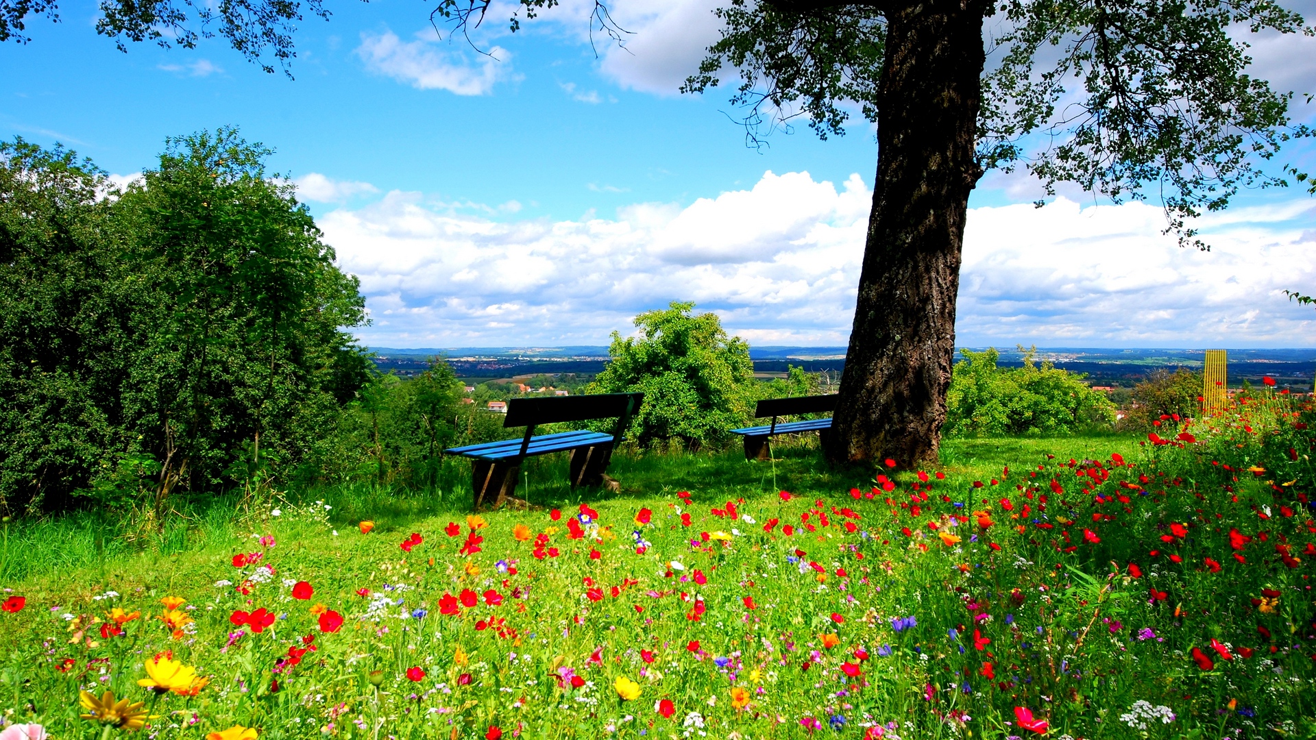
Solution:
M848 341L876 145L855 121L747 146L725 90L682 95L717 38L716 0L617 0L625 47L590 38L587 0L508 33L496 5L440 38L429 7L329 4L296 33L292 79L222 40L197 49L95 33L95 3L0 45L0 137L91 157L116 179L168 136L221 125L275 149L340 266L361 278L371 346L597 345L691 300L759 345ZM1316 20L1316 3L1291 5ZM1254 71L1316 92L1316 38L1261 37ZM1294 115L1316 122L1299 95ZM1316 147L1288 157L1316 170ZM1042 198L1046 205L1036 208ZM970 199L962 346L1316 346L1316 199L1245 192L1162 234L1155 204L1111 204L988 174Z

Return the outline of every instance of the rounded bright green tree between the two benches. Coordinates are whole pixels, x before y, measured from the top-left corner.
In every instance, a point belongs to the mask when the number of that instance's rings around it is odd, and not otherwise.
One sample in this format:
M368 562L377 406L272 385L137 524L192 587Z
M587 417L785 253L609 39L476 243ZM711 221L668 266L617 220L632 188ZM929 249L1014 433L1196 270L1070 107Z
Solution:
M697 448L749 417L755 392L749 345L728 337L716 313L694 308L674 302L636 316L638 337L613 332L608 366L590 384L590 392L645 394L629 432L642 445L680 440Z

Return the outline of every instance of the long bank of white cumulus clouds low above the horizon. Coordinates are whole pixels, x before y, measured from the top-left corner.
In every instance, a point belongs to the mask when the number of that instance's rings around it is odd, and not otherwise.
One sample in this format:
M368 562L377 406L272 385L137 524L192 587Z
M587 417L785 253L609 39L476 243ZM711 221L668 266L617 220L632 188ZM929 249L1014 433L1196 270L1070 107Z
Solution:
M390 192L320 220L361 277L380 346L604 344L694 300L758 344L844 345L871 192L807 172L615 219L496 220ZM963 345L1295 346L1316 316L1283 288L1316 279L1312 203L1205 220L1213 249L1175 246L1159 208L1057 199L975 208L959 294ZM1307 232L1304 232L1304 225ZM1308 291L1309 292L1309 291Z

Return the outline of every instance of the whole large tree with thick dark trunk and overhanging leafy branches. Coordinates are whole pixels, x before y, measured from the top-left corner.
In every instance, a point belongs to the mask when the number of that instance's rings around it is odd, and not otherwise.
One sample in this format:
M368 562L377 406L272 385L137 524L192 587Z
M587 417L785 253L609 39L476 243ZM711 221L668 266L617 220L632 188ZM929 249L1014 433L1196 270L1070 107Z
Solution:
M0 0L0 40L53 1ZM558 4L516 0L512 29ZM322 13L317 0L307 7ZM491 7L437 0L432 17L458 33ZM171 24L186 32L183 9L196 5L103 8L103 32L137 40ZM218 8L240 51L288 59L295 1ZM853 115L876 124L833 460L936 457L969 194L986 171L1021 167L1049 192L1067 182L1112 201L1157 199L1180 244L1203 248L1202 211L1225 208L1240 187L1307 178L1270 162L1312 133L1290 125L1292 93L1249 74L1249 34L1313 33L1273 0L726 0L716 14L721 40L683 90L738 74L732 97L751 136L797 116L822 137L845 133ZM603 0L592 21L625 36Z

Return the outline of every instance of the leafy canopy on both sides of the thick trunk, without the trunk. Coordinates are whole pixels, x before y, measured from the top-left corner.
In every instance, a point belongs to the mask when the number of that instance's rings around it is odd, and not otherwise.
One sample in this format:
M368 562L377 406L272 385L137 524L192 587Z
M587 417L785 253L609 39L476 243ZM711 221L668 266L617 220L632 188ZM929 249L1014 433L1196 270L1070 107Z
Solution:
M895 7L730 0L716 11L721 40L682 90L705 91L737 70L732 101L747 111L751 138L799 116L824 138L844 134L854 109L878 121L883 65L892 51L911 51L887 49ZM1282 144L1312 136L1290 125L1292 92L1250 76L1248 43L1230 36L1233 28L1313 34L1273 0L975 7L991 53L978 119L983 171L1023 167L1048 192L1069 182L1116 203L1154 194L1184 244L1196 233L1188 220L1225 208L1240 187L1286 186L1282 170L1265 163Z

